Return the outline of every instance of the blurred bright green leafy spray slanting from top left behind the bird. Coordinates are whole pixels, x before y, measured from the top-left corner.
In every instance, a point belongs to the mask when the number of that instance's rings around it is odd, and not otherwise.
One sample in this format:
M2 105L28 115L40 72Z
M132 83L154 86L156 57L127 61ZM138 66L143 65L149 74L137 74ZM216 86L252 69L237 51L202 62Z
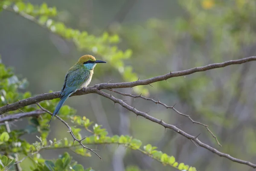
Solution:
M133 72L133 68L125 65L125 60L131 58L132 50L122 51L118 49L116 44L121 40L117 34L109 35L108 32L104 32L100 36L95 36L90 35L86 31L69 28L64 23L50 18L55 17L58 11L56 7L48 7L47 3L35 6L31 3L24 3L22 0L17 2L4 0L0 3L0 6L3 9L32 20L61 38L73 41L81 51L89 51L97 56L101 56L123 76L125 81L136 81L138 79L138 76ZM148 94L148 90L143 87L136 88L136 91Z

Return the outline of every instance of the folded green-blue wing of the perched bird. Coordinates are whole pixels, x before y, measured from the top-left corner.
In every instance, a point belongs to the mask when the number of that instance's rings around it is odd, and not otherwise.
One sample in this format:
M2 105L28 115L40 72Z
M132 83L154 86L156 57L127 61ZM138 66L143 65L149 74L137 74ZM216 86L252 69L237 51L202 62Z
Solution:
M65 76L60 98L70 96L89 78L90 72L83 67L72 67Z

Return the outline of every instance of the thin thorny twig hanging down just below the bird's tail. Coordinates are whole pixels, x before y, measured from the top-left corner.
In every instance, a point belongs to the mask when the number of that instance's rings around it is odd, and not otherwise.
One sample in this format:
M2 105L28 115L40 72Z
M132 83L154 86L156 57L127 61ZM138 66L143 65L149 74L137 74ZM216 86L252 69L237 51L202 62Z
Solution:
M47 113L49 113L50 115L52 115L52 113L51 113L49 110L44 109L44 107L42 107L38 102L37 102L36 104L38 105L38 107L40 107L41 110L43 110L44 112L47 112ZM79 144L80 144L83 148L86 148L87 150L93 152L94 154L96 154L96 156L98 156L98 157L102 160L102 158L99 156L99 154L97 154L97 153L95 152L95 151L98 151L98 150L94 150L94 149L88 148L88 147L86 147L85 145L83 145L82 140L84 140L84 138L81 139L81 140L77 139L76 136L75 136L75 134L73 133L71 127L67 124L67 122L65 122L63 119L61 119L61 118L60 118L59 116L57 116L57 115L55 115L55 117L56 117L58 120L60 120L62 123L64 123L64 125L67 126L67 128L68 128L68 130L69 130L68 132L69 132L70 135L73 137L74 142L75 142L75 141L79 142Z

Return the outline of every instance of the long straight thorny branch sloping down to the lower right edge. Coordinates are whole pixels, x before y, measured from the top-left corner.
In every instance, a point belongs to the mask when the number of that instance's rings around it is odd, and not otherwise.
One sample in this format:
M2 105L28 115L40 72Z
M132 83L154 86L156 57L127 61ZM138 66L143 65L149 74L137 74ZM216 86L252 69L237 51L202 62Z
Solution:
M137 116L142 116L144 117L145 119L148 119L150 120L151 122L155 122L159 125L162 125L164 128L169 128L169 129L172 129L174 130L176 133L179 133L180 135L186 137L187 139L191 139L193 140L195 143L197 143L199 146L209 150L209 151L212 151L212 153L215 153L215 154L218 154L220 157L225 157L227 159L230 159L231 161L233 162L238 162L238 163L241 163L241 164L244 164L244 165L248 165L248 166L251 166L253 168L256 168L256 164L252 163L252 162L249 162L249 161L245 161L245 160L241 160L241 159L237 159L235 157L232 157L230 156L230 154L226 154L226 153L222 153L220 151L218 151L217 149L201 142L197 136L192 136L186 132L184 132L183 130L180 130L179 128L177 128L176 126L174 125L171 125L171 124L167 124L165 122L163 122L163 120L161 119L157 119L157 118L154 118L153 116L149 116L148 114L146 114L145 112L141 112L139 110L137 110L135 107L131 107L130 105L126 104L124 101L122 101L121 99L117 99L115 98L113 95L110 96L110 94L108 93L105 93L101 90L96 90L95 93L103 96L103 97L106 97L108 99L110 99L111 101L113 101L114 103L118 103L120 104L122 107L125 107L127 110L130 110L131 112L135 113Z

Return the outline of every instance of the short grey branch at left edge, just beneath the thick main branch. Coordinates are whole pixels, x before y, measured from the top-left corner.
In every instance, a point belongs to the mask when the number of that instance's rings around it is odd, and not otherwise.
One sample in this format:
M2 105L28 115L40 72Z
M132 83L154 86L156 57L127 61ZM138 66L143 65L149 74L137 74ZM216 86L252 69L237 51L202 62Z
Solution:
M4 123L6 121L18 120L20 118L25 118L25 117L29 117L29 116L39 116L43 113L45 113L45 112L42 111L42 110L34 110L34 111L31 111L31 112L16 113L16 114L12 114L12 115L7 115L7 116L4 116L4 117L0 118L0 123Z

